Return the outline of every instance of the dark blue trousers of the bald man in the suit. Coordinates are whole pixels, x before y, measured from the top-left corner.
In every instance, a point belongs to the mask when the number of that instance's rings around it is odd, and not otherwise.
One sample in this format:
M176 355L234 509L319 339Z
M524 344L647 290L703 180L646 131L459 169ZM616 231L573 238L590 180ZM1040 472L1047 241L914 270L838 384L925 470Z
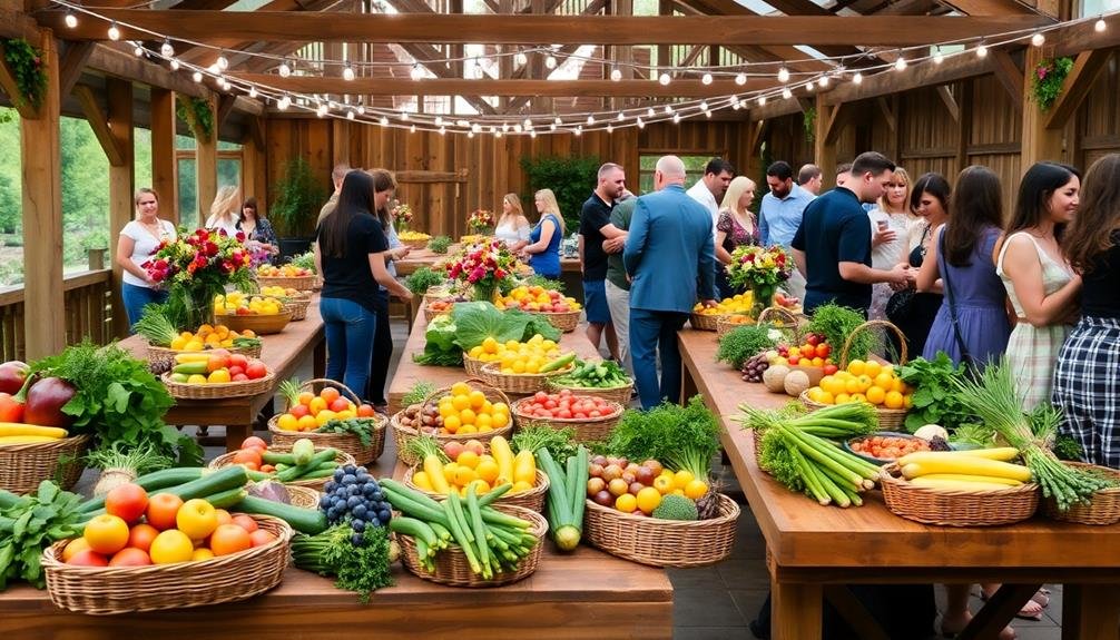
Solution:
M631 308L629 348L634 363L634 383L642 408L681 399L681 349L676 332L688 320L687 313ZM657 383L657 351L661 351L661 383Z

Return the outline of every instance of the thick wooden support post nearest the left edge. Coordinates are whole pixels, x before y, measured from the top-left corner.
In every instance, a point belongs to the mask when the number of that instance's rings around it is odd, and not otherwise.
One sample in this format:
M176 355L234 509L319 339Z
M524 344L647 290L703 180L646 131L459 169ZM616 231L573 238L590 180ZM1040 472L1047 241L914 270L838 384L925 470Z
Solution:
M44 29L38 44L47 86L38 117L20 117L24 180L24 335L28 361L66 346L63 313L63 199L58 120L58 51L54 34Z

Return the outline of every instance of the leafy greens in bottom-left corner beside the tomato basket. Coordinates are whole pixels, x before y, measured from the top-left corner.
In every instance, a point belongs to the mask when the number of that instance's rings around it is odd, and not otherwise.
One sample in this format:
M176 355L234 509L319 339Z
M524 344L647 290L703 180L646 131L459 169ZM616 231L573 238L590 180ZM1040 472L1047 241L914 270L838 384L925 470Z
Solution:
M50 480L30 496L0 490L0 591L9 580L46 586L43 549L82 534L82 497L63 491Z

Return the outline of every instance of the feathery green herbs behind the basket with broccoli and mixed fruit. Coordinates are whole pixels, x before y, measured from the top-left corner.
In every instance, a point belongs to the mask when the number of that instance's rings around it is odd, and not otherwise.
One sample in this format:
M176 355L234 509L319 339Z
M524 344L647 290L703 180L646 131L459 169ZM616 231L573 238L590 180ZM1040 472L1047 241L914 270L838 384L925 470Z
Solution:
M698 479L709 476L722 431L716 416L693 396L684 406L664 402L650 411L627 410L610 434L607 449L628 460L657 460Z

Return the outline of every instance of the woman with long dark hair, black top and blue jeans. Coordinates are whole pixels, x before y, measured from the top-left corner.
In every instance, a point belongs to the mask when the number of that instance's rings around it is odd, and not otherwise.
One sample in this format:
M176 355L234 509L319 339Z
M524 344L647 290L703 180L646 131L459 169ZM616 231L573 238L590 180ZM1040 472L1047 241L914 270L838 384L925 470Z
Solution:
M377 284L403 300L412 293L385 270L389 242L373 211L391 191L374 195L373 177L346 173L338 207L315 234L315 266L323 274L319 312L327 335L327 377L364 393L376 328Z

